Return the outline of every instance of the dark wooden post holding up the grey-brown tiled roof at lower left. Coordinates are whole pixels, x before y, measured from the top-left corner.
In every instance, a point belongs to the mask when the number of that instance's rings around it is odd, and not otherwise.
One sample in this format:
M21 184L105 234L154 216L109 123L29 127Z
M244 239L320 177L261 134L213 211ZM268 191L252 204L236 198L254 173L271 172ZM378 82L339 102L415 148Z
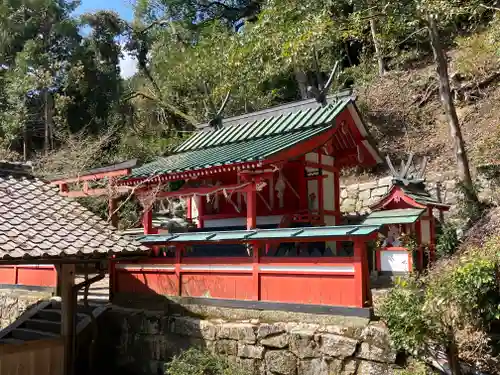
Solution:
M74 335L76 315L75 265L62 264L58 266L61 290L61 336L64 342L64 368L65 375L74 372Z

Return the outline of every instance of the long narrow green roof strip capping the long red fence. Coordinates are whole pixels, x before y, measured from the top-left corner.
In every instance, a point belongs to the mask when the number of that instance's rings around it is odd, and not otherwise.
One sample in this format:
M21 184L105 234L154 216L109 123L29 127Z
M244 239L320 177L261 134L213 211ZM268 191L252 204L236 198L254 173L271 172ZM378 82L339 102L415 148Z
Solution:
M336 238L336 237L359 237L368 236L377 232L380 225L341 225L332 227L310 227L310 228L283 228L283 229L256 229L222 232L192 232L175 234L150 234L139 236L137 241L144 244L164 243L197 243L197 242L249 242L281 240L294 242L300 239L314 238Z

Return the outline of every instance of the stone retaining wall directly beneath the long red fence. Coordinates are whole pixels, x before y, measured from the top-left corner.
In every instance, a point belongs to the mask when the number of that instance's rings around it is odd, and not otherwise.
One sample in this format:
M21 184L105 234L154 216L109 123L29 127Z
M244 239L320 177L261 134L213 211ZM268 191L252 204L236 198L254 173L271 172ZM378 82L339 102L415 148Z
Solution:
M113 308L101 324L105 339L116 340L101 342L103 359L118 367L106 371L122 375L163 374L169 358L191 346L227 356L255 375L384 375L395 368L386 328L367 320L265 323Z

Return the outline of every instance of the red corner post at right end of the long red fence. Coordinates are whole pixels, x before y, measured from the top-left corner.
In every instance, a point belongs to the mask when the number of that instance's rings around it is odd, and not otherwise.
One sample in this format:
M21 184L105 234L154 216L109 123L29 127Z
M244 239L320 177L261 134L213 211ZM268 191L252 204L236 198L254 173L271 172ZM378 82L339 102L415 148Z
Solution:
M354 241L354 295L356 307L364 307L371 303L370 279L368 275L368 260L366 242L362 239Z

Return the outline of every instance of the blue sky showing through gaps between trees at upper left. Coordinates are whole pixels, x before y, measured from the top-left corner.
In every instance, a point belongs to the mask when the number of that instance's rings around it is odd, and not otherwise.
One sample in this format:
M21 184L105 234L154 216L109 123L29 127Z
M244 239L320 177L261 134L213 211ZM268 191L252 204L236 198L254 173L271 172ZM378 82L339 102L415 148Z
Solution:
M97 10L113 10L124 20L131 21L134 17L133 0L82 0L75 15ZM124 53L120 60L120 71L123 78L129 78L137 72L137 60Z

